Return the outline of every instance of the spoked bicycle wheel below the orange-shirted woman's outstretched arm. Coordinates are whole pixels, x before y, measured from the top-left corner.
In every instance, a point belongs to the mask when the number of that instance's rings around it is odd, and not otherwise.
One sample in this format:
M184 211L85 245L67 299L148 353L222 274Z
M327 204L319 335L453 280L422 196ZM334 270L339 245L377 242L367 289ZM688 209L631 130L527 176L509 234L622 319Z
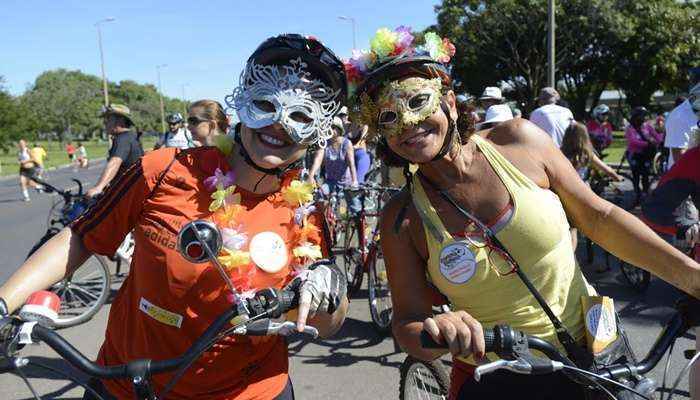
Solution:
M61 299L55 327L67 328L92 318L107 301L111 283L107 259L93 255L71 276L51 287Z

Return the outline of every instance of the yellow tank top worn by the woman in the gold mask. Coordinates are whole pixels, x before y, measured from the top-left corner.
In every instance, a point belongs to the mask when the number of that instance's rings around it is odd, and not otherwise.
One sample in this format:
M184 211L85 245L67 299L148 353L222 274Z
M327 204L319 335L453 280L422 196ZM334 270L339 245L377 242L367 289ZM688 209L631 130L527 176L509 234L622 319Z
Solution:
M594 290L576 264L559 197L537 186L482 137L472 135L471 140L486 156L513 202L510 220L496 237L574 339L582 340L581 296ZM412 187L429 250L428 279L453 307L468 312L485 328L508 324L563 350L551 321L520 278L497 273L508 271L503 258L492 252L489 261L486 247L455 239L445 229L416 174Z

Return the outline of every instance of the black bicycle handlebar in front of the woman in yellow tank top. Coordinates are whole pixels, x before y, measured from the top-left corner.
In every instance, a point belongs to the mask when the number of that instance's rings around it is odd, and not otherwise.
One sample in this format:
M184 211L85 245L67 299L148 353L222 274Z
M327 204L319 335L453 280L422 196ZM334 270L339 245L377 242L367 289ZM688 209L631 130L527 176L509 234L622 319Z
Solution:
M691 297L684 297L676 303L675 308L676 312L665 324L656 342L654 342L649 353L642 361L636 362L633 360L608 365L597 372L578 368L551 343L516 331L507 325L497 325L493 329L485 329L486 351L496 353L500 359L477 367L474 372L474 379L478 381L482 376L500 369L527 375L550 374L563 370L569 377L577 378L576 382L583 384L582 381L585 381L587 386L600 390L611 399L616 399L617 397L613 392L619 392L620 390L634 394L637 396L634 397L635 399L652 399L658 388L652 379L644 375L656 367L666 352L670 353L669 349L672 349L676 339L683 336L688 329L700 325L700 301ZM444 345L436 343L425 331L421 332L421 345L425 348L444 348ZM534 356L530 349L537 350L548 358ZM687 358L688 355L688 352L686 352ZM681 378L685 376L691 365L698 358L700 358L700 353L690 357L690 361L674 381L667 397L668 400L672 398ZM664 371L662 393L666 391L665 377L667 371L668 363ZM418 388L415 388L415 390L418 390ZM426 398L431 397L426 396Z

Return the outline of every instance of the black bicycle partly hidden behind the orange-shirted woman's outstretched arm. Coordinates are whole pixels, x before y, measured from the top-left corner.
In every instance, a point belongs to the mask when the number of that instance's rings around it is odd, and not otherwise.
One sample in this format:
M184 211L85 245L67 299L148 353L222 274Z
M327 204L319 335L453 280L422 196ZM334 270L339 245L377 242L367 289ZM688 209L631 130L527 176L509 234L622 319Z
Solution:
M88 207L88 200L83 195L83 185L78 179L73 179L77 186L75 191L62 190L43 180L35 180L44 186L46 193L56 193L58 196L49 212L46 233L29 250L27 258ZM80 268L51 287L50 290L61 299L61 308L58 318L54 320L54 327L67 328L92 318L107 301L111 283L108 259L92 255Z

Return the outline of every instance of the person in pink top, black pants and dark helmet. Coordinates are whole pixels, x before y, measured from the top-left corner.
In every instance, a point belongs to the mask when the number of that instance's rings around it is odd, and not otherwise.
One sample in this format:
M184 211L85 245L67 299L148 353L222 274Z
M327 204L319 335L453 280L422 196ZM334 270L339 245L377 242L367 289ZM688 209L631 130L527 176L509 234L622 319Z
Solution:
M632 171L632 186L636 196L636 204L639 204L642 195L649 192L651 163L659 145L663 143L663 137L647 121L648 116L649 111L645 107L635 107L630 114L630 124L625 130L627 162Z

